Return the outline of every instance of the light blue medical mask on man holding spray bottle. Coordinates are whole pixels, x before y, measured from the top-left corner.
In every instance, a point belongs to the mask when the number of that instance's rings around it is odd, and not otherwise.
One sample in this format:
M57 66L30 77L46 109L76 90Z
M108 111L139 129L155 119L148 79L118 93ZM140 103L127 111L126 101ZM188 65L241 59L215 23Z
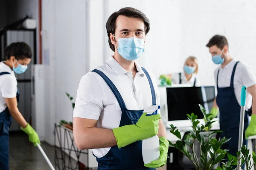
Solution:
M144 39L131 37L119 39L116 38L116 40L118 40L118 53L124 59L127 59L129 61L139 58L140 55L145 51Z

